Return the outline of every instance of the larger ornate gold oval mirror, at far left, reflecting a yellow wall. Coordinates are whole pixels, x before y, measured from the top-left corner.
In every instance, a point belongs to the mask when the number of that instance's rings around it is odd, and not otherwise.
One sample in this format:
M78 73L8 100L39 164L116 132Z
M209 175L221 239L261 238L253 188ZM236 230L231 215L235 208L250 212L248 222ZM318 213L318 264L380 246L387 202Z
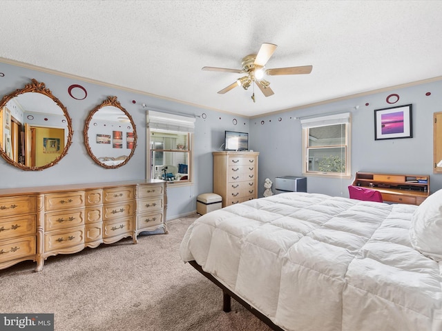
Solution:
M44 83L32 79L0 101L0 154L23 170L43 170L60 161L72 143L66 107Z

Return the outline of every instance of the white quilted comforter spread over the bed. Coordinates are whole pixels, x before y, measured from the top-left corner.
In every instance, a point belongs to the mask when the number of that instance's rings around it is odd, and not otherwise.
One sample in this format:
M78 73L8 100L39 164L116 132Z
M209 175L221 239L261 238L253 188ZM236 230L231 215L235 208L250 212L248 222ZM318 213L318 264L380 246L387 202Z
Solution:
M278 194L200 217L180 255L285 330L441 331L441 270L410 244L415 209Z

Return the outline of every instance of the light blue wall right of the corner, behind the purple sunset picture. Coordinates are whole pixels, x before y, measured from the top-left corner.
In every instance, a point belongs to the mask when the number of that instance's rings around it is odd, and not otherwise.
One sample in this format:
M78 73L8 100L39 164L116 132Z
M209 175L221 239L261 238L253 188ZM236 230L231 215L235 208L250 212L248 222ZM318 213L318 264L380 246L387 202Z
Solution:
M431 94L427 96L427 92ZM398 94L400 99L389 104L386 99L392 93ZM374 110L410 103L413 137L375 141ZM302 175L299 118L336 112L352 113L352 176L358 171L430 174L430 191L439 190L442 174L433 174L432 121L433 113L442 111L441 105L442 81L436 81L251 119L251 148L260 151L259 194L262 197L266 178L274 182L278 176ZM350 183L352 179L308 177L307 191L348 197Z

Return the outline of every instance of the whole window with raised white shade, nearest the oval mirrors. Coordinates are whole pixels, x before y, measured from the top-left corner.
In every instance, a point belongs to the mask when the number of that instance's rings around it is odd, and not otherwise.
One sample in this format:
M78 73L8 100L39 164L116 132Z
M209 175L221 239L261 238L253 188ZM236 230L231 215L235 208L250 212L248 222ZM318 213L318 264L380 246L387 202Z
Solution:
M195 118L149 110L147 123L147 178L190 182Z

